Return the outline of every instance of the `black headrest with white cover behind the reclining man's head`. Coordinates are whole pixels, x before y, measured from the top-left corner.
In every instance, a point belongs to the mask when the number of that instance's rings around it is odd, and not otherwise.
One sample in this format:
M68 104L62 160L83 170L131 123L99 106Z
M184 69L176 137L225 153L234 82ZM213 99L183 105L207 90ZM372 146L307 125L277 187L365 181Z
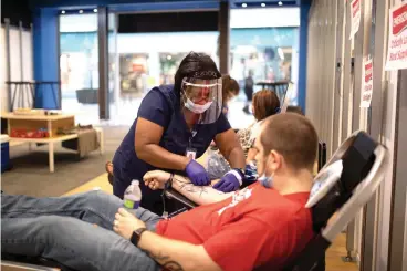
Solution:
M378 160L377 152L380 154ZM385 148L364 132L355 132L340 146L316 176L313 191L306 202L306 207L312 209L315 232L320 232L351 197L354 198L356 190L372 185L367 176L375 173L375 164L383 164L385 153ZM365 192L371 192L371 188L366 189Z

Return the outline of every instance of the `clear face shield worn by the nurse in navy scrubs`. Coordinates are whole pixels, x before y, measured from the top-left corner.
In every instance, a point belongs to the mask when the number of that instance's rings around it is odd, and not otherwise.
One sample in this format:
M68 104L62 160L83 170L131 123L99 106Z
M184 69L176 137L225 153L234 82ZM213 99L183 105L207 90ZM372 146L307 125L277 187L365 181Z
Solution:
M181 83L184 106L200 114L200 124L215 123L222 112L222 79L185 77Z

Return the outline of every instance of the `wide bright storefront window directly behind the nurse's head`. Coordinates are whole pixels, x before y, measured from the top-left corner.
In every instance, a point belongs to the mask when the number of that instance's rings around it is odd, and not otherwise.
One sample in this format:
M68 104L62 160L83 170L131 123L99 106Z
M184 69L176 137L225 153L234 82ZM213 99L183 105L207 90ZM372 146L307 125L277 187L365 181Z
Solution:
M117 34L121 94L140 96L156 85L173 84L181 60L191 51L218 63L217 39L218 32Z

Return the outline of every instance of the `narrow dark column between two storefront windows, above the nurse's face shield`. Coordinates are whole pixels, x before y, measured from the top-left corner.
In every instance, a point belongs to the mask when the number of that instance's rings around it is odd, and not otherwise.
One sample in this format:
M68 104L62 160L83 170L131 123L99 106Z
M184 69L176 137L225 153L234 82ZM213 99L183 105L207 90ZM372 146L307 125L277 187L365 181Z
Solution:
M230 4L229 1L219 3L219 71L221 74L229 73L229 37L230 37Z

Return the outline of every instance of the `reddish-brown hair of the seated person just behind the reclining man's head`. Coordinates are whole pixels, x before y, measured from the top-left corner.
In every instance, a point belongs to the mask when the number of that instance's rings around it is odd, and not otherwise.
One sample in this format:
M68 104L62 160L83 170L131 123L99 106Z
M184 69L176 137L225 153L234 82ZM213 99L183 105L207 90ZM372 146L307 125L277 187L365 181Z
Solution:
M268 116L274 115L280 108L280 100L273 91L262 90L253 96L254 117L262 121Z

